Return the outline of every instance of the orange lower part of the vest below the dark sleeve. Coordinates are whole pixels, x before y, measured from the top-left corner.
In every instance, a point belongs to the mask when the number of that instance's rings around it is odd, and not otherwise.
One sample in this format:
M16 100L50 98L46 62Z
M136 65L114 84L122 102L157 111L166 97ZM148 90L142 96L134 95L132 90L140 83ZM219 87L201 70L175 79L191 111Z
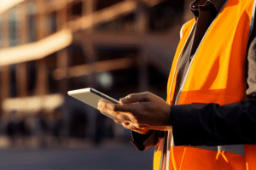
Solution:
M172 161L176 161L176 167L171 166L171 170L241 170L246 169L245 157L230 152L216 156L218 151L204 150L194 147L172 146ZM194 159L196 158L196 159ZM228 160L228 161L226 161Z

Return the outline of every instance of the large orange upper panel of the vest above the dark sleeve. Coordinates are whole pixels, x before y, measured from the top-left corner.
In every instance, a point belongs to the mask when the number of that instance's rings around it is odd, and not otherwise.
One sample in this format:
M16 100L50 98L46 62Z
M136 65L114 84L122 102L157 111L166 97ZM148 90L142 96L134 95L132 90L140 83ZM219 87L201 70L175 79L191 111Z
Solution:
M203 103L219 105L246 98L245 61L252 8L252 0L226 4L195 55L178 104L201 102L202 96ZM195 97L191 98L192 94Z

